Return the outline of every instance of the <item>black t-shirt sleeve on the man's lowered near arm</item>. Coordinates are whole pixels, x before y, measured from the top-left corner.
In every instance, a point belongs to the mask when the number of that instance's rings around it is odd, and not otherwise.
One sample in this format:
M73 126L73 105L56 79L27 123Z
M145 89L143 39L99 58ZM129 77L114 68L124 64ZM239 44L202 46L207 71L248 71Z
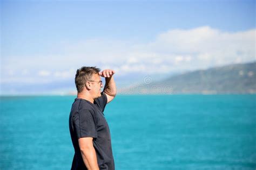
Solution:
M77 139L82 137L97 138L97 123L93 112L90 110L79 110L73 117Z

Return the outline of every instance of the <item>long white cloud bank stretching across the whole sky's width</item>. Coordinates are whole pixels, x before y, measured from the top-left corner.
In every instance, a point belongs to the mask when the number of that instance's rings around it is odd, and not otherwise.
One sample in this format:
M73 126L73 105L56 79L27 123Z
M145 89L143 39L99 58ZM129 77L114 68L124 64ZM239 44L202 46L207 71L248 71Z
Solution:
M117 74L203 69L255 60L255 33L202 26L162 32L145 43L106 39L66 42L54 55L3 56L1 72L5 80L32 76L33 72L39 75L33 75L34 79L44 76L56 80L74 77L81 66L112 68Z

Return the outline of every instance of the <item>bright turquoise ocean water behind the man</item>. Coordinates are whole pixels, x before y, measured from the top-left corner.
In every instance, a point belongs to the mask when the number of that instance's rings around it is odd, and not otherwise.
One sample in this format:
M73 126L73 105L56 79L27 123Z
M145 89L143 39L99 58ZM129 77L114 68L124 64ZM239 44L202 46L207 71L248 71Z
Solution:
M0 169L70 169L74 99L1 97ZM118 95L104 114L117 170L256 168L256 95Z

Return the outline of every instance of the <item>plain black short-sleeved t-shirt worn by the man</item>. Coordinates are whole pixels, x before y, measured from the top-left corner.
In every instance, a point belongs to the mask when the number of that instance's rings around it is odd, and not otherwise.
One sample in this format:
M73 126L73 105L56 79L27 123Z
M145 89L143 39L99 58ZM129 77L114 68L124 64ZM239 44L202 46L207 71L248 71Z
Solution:
M103 114L107 97L103 92L101 94L102 96L96 98L93 104L82 98L76 98L72 104L69 129L75 155L71 169L87 169L80 152L78 139L92 137L99 168L114 170L110 130Z

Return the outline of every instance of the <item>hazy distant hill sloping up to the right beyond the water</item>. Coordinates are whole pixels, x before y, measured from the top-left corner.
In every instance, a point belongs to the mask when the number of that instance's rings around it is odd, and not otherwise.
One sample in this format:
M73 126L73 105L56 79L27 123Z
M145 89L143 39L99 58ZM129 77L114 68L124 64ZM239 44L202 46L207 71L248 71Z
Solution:
M119 94L256 94L256 62L196 70L163 81L145 77Z

